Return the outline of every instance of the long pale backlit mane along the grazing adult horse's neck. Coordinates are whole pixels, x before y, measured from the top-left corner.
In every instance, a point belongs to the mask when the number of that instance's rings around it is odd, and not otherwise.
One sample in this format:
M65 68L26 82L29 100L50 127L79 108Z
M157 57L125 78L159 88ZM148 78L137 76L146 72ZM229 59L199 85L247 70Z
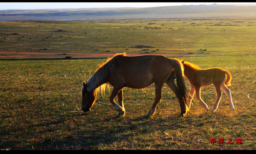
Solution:
M95 71L92 77L86 82L86 89L88 91L101 91L101 94L105 93L107 86L108 75L115 76L116 65L122 62L126 53L117 53L112 58L108 58L105 63L99 65L100 67ZM83 88L83 87L82 87ZM108 87L109 88L109 87ZM81 89L82 91L82 89Z

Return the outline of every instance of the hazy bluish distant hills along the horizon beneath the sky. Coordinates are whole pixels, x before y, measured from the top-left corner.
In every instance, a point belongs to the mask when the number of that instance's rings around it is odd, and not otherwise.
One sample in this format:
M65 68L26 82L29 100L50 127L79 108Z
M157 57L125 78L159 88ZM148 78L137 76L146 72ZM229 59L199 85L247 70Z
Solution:
M188 17L256 16L256 6L183 5L150 8L0 10L0 21L9 20L95 20L163 19Z

